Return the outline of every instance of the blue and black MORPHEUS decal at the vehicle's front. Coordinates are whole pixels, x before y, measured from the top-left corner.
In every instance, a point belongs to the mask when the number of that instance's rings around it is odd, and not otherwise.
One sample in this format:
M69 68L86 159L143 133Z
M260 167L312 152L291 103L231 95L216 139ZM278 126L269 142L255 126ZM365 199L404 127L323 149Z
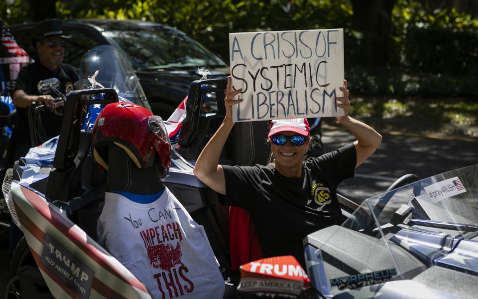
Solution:
M339 290L356 289L365 286L371 286L390 282L397 275L395 268L375 271L370 273L355 274L330 280L331 287L337 287Z

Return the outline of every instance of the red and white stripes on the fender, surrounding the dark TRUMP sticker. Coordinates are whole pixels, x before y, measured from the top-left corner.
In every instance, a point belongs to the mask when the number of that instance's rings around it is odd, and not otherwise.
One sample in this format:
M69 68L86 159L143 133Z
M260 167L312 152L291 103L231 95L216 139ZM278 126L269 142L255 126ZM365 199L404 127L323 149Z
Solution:
M55 298L82 297L74 292L72 286L60 279L60 272L55 273L45 267L42 252L49 246L46 243L46 234L94 272L94 277L90 278L91 298L151 298L144 285L95 240L65 217L63 210L25 187L22 181L12 182L11 192L30 252Z

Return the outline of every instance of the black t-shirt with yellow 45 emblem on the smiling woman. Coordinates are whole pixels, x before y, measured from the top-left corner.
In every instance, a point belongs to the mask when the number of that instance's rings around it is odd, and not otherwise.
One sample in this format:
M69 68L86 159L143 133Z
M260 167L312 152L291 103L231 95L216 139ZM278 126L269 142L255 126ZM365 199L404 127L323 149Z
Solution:
M302 266L303 239L342 224L337 185L354 176L353 144L309 158L300 178L285 177L272 166L223 165L226 196L222 204L249 212L266 257L293 255Z

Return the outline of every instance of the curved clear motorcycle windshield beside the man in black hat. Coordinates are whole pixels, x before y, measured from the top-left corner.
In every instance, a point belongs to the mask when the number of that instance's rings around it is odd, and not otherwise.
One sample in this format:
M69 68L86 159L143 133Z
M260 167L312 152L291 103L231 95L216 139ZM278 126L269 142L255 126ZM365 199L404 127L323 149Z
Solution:
M86 52L80 60L80 88L89 88L88 77L94 77L96 82L105 88L113 88L118 96L149 110L144 91L131 63L111 45L101 45Z

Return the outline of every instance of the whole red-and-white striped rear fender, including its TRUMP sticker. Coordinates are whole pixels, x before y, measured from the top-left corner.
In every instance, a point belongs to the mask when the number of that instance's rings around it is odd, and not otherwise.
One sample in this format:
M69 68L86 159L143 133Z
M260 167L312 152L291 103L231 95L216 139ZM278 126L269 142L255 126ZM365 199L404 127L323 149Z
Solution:
M33 176L46 177L42 173ZM33 177L29 176L13 181L11 194L30 252L54 298L151 299L146 287L68 219L64 210L30 189L28 181L32 180ZM54 244L51 240L55 241ZM57 244L61 245L61 250ZM53 249L55 251L51 253ZM71 263L65 258L67 254L74 257ZM47 260L47 257L55 259L53 267L48 267L52 260ZM81 269L79 265L82 265ZM84 277L82 271L86 268L92 275ZM80 272L81 279L78 278ZM81 281L82 285L79 284ZM85 285L88 287L83 288Z

